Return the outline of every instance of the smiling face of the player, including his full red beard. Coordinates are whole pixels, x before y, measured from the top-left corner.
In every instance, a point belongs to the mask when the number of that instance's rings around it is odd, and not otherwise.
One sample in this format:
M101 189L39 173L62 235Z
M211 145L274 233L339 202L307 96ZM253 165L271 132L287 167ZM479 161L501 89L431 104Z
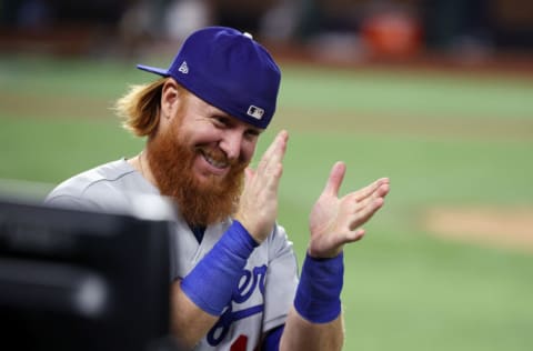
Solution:
M181 96L148 144L161 193L178 202L190 224L207 225L232 214L260 133L191 93Z

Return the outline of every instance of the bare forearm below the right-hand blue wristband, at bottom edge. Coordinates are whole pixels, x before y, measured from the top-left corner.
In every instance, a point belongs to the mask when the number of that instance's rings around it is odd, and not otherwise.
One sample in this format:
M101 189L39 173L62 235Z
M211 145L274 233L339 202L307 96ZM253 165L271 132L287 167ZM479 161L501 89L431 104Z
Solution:
M342 314L328 323L311 323L291 309L281 337L280 351L341 350L344 342Z

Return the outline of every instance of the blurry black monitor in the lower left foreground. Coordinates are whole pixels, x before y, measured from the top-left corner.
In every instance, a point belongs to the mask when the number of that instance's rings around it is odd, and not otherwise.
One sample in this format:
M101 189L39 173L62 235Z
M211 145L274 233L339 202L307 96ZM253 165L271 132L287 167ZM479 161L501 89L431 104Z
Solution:
M170 350L169 225L0 199L0 335L12 350Z

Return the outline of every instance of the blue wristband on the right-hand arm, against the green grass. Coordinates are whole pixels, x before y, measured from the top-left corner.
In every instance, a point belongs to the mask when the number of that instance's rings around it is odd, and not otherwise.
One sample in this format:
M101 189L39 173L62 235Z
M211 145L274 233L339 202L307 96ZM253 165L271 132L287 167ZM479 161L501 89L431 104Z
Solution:
M343 253L332 259L303 262L294 298L298 313L312 323L329 323L341 314L341 291L344 279Z

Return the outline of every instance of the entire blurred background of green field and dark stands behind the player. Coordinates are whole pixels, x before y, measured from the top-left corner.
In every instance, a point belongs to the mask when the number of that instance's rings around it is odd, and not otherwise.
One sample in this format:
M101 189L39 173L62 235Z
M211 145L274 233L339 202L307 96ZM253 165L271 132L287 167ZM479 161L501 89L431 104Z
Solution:
M302 258L331 166L391 178L345 249L345 350L533 347L533 2L0 0L0 194L132 157L111 107L194 29L249 31L282 68L280 223ZM257 160L254 161L257 162Z

